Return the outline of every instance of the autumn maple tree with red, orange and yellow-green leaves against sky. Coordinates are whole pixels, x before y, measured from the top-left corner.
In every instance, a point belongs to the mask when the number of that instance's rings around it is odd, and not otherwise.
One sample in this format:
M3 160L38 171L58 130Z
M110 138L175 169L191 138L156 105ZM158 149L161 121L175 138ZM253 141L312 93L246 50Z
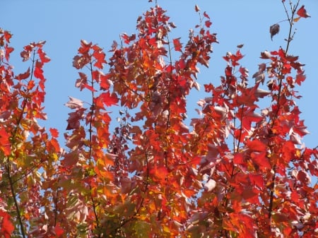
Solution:
M109 52L81 40L75 85L90 101L69 97L63 146L38 122L45 42L24 47L30 67L16 74L11 32L0 29L0 237L317 236L318 154L302 144L296 89L306 77L289 53L294 25L310 15L282 2L285 46L261 52L252 77L242 45L226 53L191 120L187 96L218 43L199 6L183 43L157 4ZM272 40L279 30L271 25Z

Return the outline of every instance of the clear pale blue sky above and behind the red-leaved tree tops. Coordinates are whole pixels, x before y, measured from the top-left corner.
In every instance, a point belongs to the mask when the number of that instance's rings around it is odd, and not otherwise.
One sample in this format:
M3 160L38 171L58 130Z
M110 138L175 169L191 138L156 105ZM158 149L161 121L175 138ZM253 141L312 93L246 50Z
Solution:
M285 1L288 4L289 0ZM265 49L276 50L280 46L285 48L287 22L280 23L281 32L273 37L273 41L269 35L270 25L286 19L281 0L158 0L158 4L167 10L170 20L177 25L172 37L182 37L184 42L187 41L189 28L199 23L195 4L211 17L211 31L218 33L220 44L214 45L210 68L201 67L201 85L210 81L218 85L226 66L222 56L226 52L235 52L237 44L244 44L242 53L246 56L241 63L249 69L251 82L253 73L258 69L257 64L261 63L259 53ZM304 141L307 146L314 147L318 145L318 1L301 0L300 4L305 5L312 17L302 18L297 23L298 30L290 46L290 54L299 55L302 64L306 64L307 80L298 88L302 99L297 103L302 112L301 118L305 119L311 132ZM45 112L49 117L45 126L55 127L63 134L70 112L64 106L68 96L86 98L74 87L78 73L71 66L80 40L98 43L107 52L112 41L119 40L122 32L136 32L136 19L154 3L147 0L0 0L0 6L0 28L13 33L11 46L16 50L11 54L11 64L15 66L16 74L30 66L20 60L23 46L30 42L47 41L44 49L52 61L45 66ZM190 118L197 117L195 102L202 97L206 97L203 91L188 97L192 107L188 109Z

